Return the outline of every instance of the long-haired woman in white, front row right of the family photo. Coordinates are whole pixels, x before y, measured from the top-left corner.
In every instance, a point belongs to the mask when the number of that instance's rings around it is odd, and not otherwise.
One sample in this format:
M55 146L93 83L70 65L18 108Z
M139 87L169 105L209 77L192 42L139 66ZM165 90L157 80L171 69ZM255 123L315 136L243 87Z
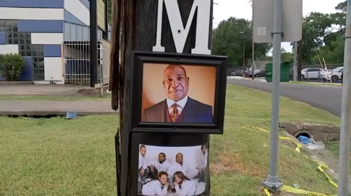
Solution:
M197 183L182 173L177 171L174 173L174 188L178 196L191 196L196 194Z

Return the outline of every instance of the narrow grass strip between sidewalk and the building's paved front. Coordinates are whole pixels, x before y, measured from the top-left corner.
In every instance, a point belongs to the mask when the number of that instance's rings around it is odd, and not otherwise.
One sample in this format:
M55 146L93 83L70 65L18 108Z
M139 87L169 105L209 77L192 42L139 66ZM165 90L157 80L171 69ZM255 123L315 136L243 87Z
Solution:
M102 98L86 95L0 95L0 101L111 101L111 94Z

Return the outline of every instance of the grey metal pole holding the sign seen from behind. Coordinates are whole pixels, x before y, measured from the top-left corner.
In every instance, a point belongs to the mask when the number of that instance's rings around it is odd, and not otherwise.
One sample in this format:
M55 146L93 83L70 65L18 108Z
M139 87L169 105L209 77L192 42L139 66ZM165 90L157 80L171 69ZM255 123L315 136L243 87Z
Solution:
M351 0L349 0L351 1ZM274 0L273 18L273 88L271 106L271 149L269 174L262 181L263 186L271 191L279 190L283 183L278 178L278 127L279 127L279 85L282 37L282 0Z

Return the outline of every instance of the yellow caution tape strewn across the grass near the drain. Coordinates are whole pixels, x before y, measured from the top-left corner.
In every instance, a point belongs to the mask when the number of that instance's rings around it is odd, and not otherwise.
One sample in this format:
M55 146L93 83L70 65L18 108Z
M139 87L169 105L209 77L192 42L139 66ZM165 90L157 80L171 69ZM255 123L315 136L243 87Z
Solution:
M245 126L245 127L242 127L242 128L244 128L244 129L253 129L253 130L258 130L258 131L265 132L265 133L270 133L269 131L267 131L265 129L262 129L260 127ZM285 140L292 141L296 145L295 150L300 153L300 148L302 148L301 144L295 142L293 139L291 139L289 137L279 136L279 139L285 139ZM329 183L331 183L333 186L335 186L337 188L337 184L335 182L333 182L333 180L329 177L329 175L323 170L323 168L324 169L329 169L329 166L325 162L320 161L320 160L314 160L314 159L308 157L307 155L303 155L303 156L308 158L308 159L310 159L310 160L312 160L312 161L314 161L314 162L316 162L316 163L318 163L318 170L325 175L325 177L326 177L326 179L328 180ZM271 194L269 193L267 188L264 188L263 190L264 190L264 192L266 193L267 196L271 196ZM307 191L307 190L302 190L302 189L294 188L294 187L291 187L291 186L283 186L281 188L281 190L284 190L284 191L287 191L287 192L291 192L291 193L295 193L295 194L307 194L307 195L312 195L312 196L333 196L333 195L326 195L326 194L322 194L322 193L318 193L318 192L311 192L311 191Z

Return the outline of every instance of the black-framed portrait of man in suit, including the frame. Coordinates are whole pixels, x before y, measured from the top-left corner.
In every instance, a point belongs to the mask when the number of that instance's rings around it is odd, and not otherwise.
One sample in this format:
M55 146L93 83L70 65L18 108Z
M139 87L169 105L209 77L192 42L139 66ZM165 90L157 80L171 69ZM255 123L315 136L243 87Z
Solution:
M133 131L222 134L227 57L133 52Z

